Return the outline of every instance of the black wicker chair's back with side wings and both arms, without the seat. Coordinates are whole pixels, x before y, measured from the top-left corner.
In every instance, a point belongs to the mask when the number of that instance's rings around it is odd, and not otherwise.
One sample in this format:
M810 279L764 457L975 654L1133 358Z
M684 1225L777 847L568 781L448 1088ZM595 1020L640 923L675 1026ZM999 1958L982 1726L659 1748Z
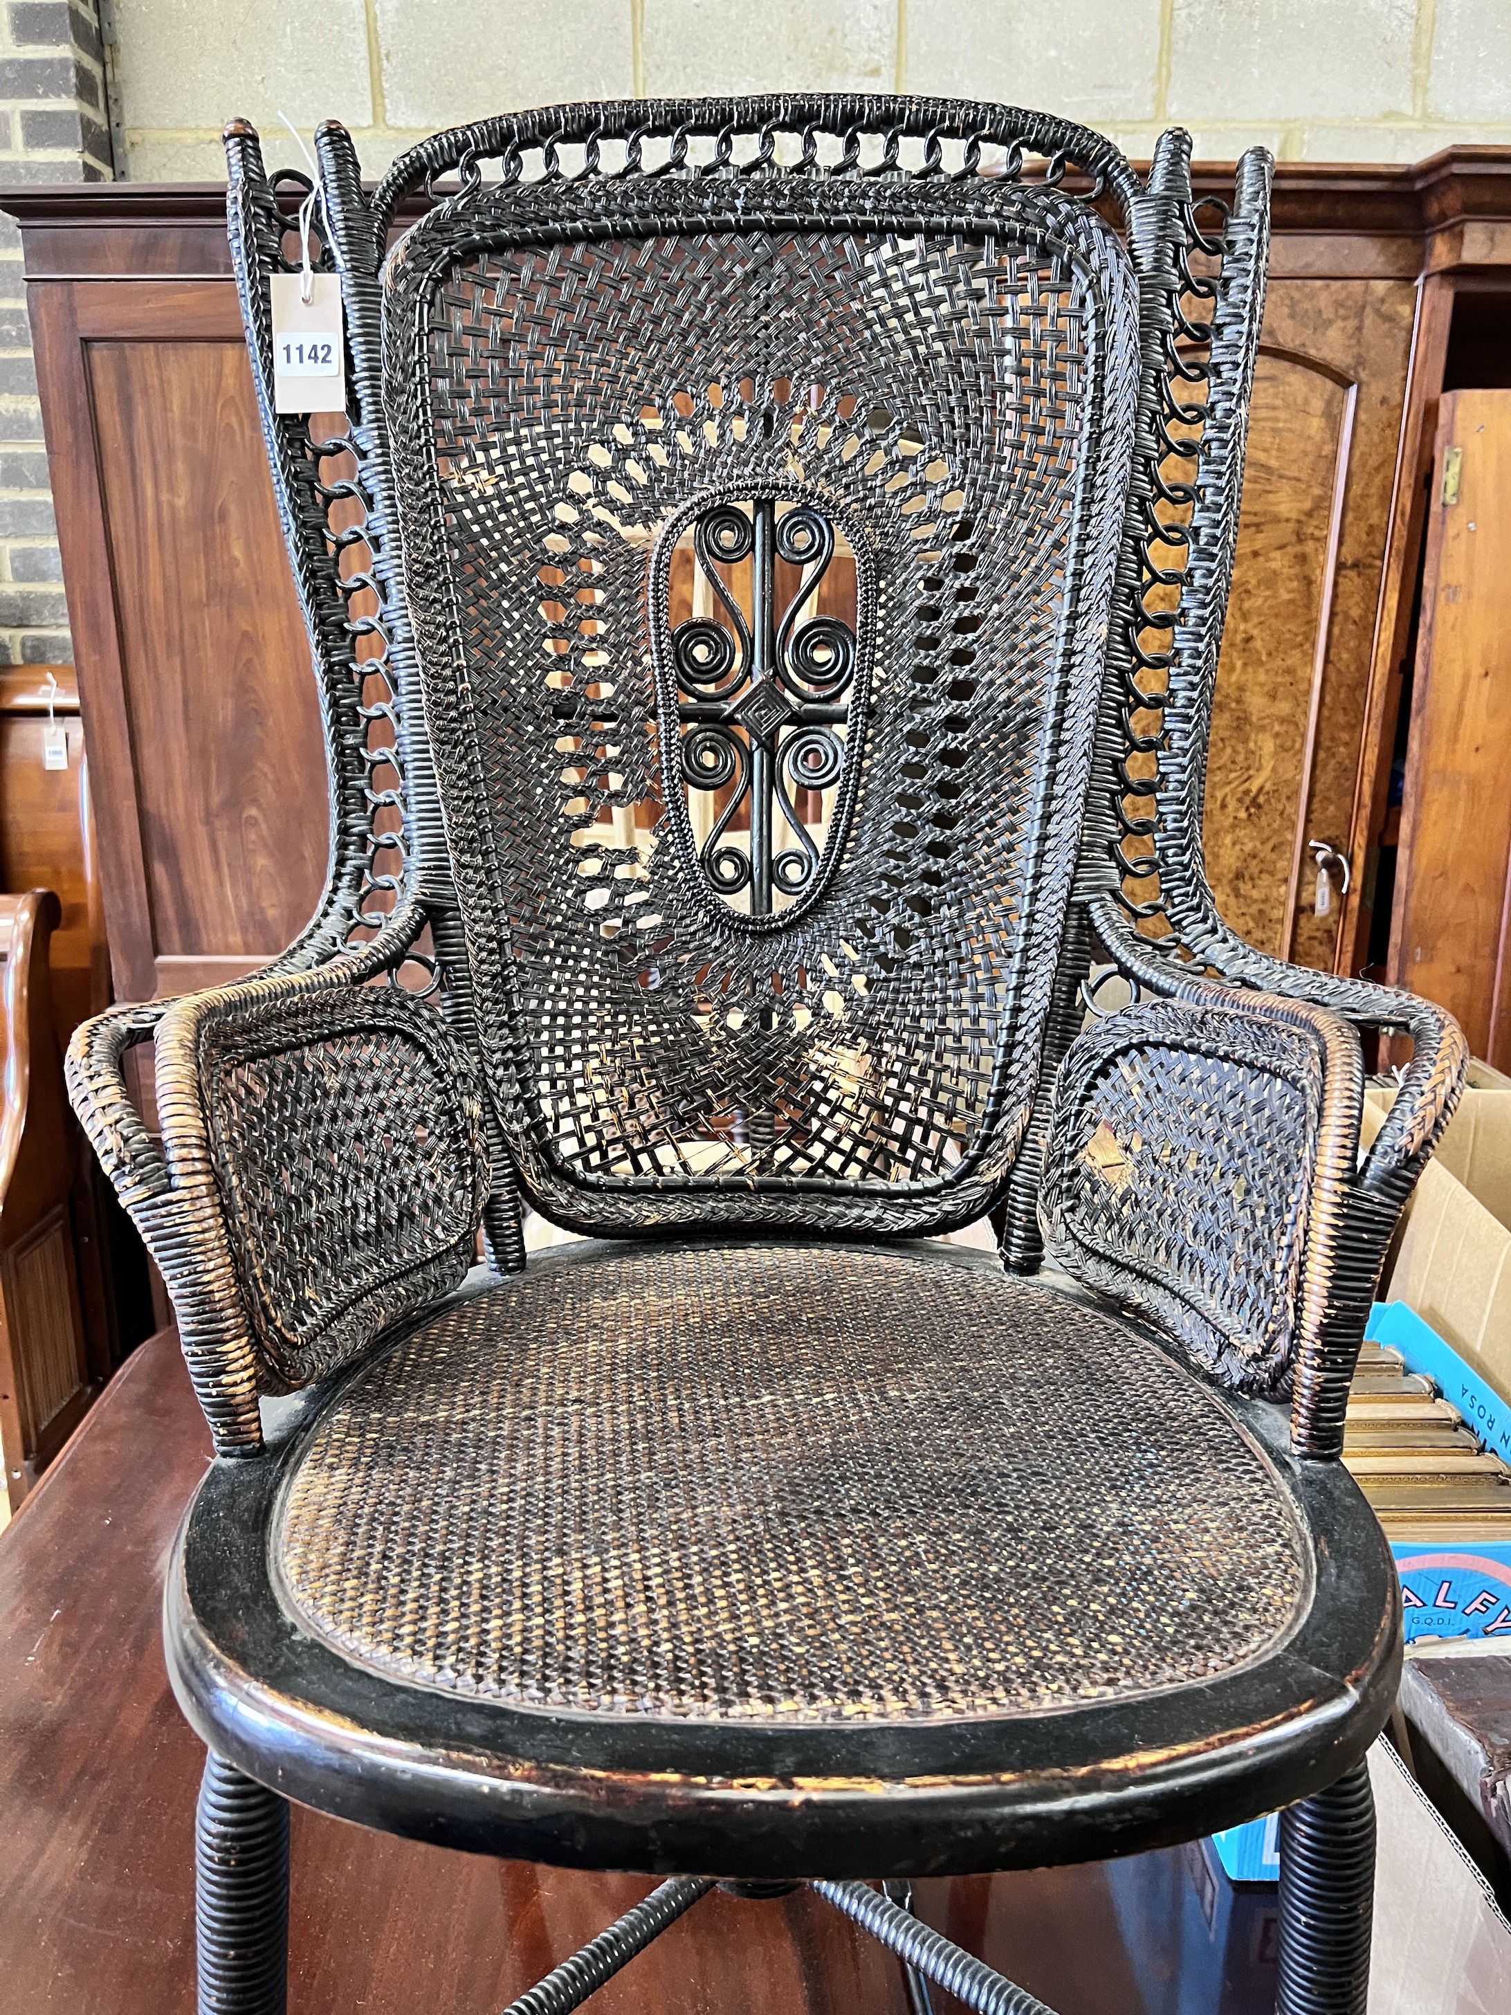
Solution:
M218 1445L252 1453L258 1386L439 1292L475 1207L496 1265L522 1265L524 1193L619 1235L901 1237L993 1209L1023 1271L1046 1209L1082 1278L1227 1382L1291 1382L1297 1447L1332 1453L1461 1046L1422 1001L1243 947L1205 881L1267 155L1199 214L1179 131L1140 177L1003 107L635 101L435 135L367 191L330 123L314 264L340 274L342 429L272 399L270 280L310 183L268 181L246 123L226 145L330 879L258 981L97 1026L71 1064L181 1318L203 1302L185 1348ZM1299 1189L1263 1280L1233 1286L1209 1227L1166 1294L1064 1161L1122 1096L1118 1040L1076 1044L1098 945L1134 999L1183 1003L1148 1024L1140 1092L1166 1074L1177 1130L1247 1110L1243 1074L1275 1066ZM314 997L381 979L397 1020ZM312 1124L373 1225L369 1102L340 1070L431 1054L407 1018L433 1001L457 1086L397 1114L429 1159L395 1265L363 1249L349 1296L326 1255L292 1324L248 1134L264 1078L296 1076L268 1034L282 987L304 1001L290 1050L342 1060ZM1358 1177L1348 1024L1416 1038ZM189 1140L171 1171L117 1082L153 1032ZM387 1140L397 1108L371 1110Z

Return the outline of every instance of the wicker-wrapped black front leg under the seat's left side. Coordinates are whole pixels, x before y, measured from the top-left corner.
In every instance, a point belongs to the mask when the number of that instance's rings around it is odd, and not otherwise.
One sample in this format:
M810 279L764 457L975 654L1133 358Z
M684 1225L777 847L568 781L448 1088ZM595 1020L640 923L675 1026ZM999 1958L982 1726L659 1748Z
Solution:
M212 1749L195 1814L199 2015L288 2007L288 1801Z

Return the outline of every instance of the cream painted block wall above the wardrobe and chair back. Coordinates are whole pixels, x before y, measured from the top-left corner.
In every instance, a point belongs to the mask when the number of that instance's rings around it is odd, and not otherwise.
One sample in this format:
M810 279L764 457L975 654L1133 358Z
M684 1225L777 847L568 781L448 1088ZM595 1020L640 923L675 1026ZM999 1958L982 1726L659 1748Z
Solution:
M365 165L459 119L574 97L927 91L1066 113L1148 155L1285 161L1511 143L1511 0L115 0L133 179L220 173L232 113Z

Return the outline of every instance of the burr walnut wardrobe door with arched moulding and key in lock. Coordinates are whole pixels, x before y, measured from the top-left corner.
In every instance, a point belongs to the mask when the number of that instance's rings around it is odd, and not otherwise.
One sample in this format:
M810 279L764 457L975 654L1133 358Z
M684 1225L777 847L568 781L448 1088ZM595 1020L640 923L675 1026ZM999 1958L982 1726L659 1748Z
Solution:
M1249 943L1332 971L1416 290L1275 280L1207 772L1207 872Z

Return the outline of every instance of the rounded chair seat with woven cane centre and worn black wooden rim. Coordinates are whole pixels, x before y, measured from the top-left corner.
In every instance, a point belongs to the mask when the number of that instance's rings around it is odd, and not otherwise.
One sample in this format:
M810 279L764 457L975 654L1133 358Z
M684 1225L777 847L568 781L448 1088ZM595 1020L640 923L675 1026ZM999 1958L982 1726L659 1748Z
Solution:
M252 1775L292 1741L280 1789L399 1830L393 1783L367 1809L375 1775L445 1751L475 1783L423 1830L496 1852L1007 1866L1034 1854L1027 1814L1060 1807L1062 1836L1076 1799L1108 1852L1108 1826L1158 1834L1154 1807L1179 1836L1201 1785L1211 1824L1299 1795L1384 1715L1388 1558L1283 1425L953 1247L566 1249L306 1400L274 1463L218 1465L240 1475L189 1525L177 1676ZM1318 1499L1344 1527L1326 1548ZM254 1584L234 1644L193 1586L224 1604L226 1560L193 1574L208 1523L210 1554L236 1527L230 1580ZM238 1695L278 1741L228 1745ZM572 1820L542 1834L550 1785ZM689 1858L721 1795L774 1795L766 1832L733 1842L725 1814L731 1858ZM929 1848L941 1797L959 1809ZM876 1858L850 1866L866 1814Z

